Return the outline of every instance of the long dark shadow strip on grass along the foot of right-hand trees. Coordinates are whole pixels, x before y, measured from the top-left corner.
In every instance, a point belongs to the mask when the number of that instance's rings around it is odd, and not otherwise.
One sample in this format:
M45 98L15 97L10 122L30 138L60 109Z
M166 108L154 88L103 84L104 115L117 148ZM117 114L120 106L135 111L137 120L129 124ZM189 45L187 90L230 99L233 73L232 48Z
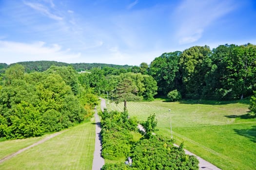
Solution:
M168 102L168 100L165 100L163 102ZM207 104L207 105L225 105L225 104L233 104L233 103L250 104L249 99L236 100L236 101L180 100L178 102L181 104Z

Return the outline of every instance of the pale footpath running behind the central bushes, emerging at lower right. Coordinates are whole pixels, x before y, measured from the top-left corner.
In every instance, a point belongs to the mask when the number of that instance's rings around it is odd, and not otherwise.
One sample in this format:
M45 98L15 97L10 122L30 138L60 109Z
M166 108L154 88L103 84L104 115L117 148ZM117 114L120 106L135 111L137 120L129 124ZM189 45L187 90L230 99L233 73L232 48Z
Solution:
M104 108L106 108L106 102L105 102L104 99L101 99L100 106L101 106L101 110L102 111L104 110ZM142 128L143 129L143 127L141 125L140 126L138 125L138 128ZM174 144L174 146L178 147L177 144ZM194 156L197 157L197 159L199 160L199 165L198 165L199 166L199 170L221 170L221 169L217 168L215 165L211 164L210 162L208 162L208 161L204 160L203 158L197 156L196 154L191 153L191 152L189 152L189 151L187 151L185 149L184 149L184 151L188 155L194 155Z

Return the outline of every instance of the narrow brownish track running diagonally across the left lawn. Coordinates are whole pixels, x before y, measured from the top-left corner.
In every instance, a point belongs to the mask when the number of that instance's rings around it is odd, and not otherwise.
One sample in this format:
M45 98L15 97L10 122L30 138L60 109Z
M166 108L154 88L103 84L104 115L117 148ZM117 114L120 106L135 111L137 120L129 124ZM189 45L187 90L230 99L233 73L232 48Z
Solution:
M65 130L65 131L66 131L66 130ZM49 140L49 139L51 139L51 138L53 138L53 137L55 137L55 136L57 136L57 135L59 135L59 134L62 134L62 133L65 132L65 131L57 132L57 133L54 133L54 134L52 134L52 135L50 135L50 136L46 136L45 138L39 140L38 142L36 142L36 143L34 143L34 144L32 144L32 145L30 145L30 146L28 146L28 147L26 147L26 148L20 149L20 150L17 151L16 153L13 153L13 154L11 154L11 155L8 155L8 156L2 158L2 159L0 160L0 163L3 163L4 161L6 161L6 160L8 160L8 159L11 159L12 157L16 156L17 154L20 154L20 153L22 153L22 152L24 152L24 151L26 151L26 150L28 150L28 149L34 147L34 146L37 146L37 145L39 145L39 144L45 142L46 140Z

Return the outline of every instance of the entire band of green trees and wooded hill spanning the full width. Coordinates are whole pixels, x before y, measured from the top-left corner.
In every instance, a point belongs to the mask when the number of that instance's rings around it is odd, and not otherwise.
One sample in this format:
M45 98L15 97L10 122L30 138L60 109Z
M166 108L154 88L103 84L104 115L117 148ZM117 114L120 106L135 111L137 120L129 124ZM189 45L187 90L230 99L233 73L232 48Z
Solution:
M256 46L195 46L139 66L1 63L0 137L40 136L72 126L91 115L101 95L124 102L124 110L128 101L152 101L156 95L170 101L249 98L255 114Z

